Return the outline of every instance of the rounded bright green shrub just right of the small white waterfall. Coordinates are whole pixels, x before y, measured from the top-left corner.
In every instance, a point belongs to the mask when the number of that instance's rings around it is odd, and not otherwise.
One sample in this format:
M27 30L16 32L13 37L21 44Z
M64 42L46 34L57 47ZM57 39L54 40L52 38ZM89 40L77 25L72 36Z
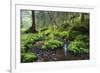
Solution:
M73 41L69 44L68 50L73 54L88 53L89 47L83 41Z

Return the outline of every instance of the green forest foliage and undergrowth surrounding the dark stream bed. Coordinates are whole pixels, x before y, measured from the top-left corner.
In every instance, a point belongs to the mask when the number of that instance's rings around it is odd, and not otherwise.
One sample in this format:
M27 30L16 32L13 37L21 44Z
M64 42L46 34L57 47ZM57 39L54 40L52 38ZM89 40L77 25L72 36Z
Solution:
M21 10L21 14L21 62L37 60L30 48L63 49L65 42L73 55L89 53L89 13L34 11L32 14Z

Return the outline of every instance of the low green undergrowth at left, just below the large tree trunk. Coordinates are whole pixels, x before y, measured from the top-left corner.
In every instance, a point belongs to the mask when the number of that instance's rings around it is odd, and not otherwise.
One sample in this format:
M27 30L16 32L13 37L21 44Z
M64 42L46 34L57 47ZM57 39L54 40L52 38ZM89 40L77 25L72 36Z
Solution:
M32 47L32 43L42 40L42 34L23 34L21 36L21 52L26 52L27 48Z

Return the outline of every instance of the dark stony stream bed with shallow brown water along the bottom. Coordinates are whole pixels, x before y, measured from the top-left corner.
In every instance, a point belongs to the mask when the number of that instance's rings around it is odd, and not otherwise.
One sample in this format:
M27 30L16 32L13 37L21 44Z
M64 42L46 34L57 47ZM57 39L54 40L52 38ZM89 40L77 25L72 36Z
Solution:
M55 50L40 50L37 48L30 48L29 51L34 52L37 55L38 58L36 62L88 60L89 59L89 53L75 55L70 52L67 52L67 55L65 55L63 48L58 48Z

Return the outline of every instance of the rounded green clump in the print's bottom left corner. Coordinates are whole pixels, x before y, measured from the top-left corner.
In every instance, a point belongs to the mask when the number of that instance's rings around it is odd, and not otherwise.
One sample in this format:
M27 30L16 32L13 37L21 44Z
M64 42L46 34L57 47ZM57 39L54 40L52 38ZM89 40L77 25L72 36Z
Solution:
M37 60L37 56L34 53L21 53L21 62L34 62Z

